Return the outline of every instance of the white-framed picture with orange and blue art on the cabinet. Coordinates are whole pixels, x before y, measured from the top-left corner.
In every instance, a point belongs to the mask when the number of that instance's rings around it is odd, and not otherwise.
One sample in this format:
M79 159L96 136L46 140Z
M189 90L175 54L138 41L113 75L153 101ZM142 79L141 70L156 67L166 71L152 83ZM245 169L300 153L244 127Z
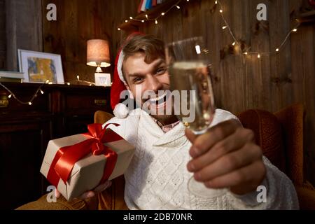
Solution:
M18 49L20 72L23 73L25 83L64 84L62 60L60 55Z

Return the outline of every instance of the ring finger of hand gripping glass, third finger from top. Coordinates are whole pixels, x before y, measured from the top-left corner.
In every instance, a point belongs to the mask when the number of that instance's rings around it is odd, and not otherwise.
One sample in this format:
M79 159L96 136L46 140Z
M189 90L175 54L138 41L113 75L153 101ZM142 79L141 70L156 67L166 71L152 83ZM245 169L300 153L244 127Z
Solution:
M218 176L229 174L254 161L261 160L262 151L255 144L246 144L238 151L228 153L194 174L196 181L210 181Z

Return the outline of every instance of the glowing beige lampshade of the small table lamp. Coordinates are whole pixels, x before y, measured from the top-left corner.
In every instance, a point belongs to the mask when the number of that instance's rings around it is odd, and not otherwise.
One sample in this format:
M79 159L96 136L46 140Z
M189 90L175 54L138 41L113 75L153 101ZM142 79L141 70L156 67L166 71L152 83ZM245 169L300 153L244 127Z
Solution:
M108 67L111 65L109 42L101 39L87 41L87 65Z

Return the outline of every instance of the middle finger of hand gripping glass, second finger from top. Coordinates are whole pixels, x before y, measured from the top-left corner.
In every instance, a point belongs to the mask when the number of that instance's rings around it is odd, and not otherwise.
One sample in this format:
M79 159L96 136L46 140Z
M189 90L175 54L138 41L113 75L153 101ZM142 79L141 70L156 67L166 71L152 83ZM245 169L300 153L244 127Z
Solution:
M187 168L190 172L197 172L203 167L210 165L223 155L242 148L246 144L246 139L253 138L251 130L239 129L227 138L219 141L209 151L188 162ZM256 146L253 146L256 147Z

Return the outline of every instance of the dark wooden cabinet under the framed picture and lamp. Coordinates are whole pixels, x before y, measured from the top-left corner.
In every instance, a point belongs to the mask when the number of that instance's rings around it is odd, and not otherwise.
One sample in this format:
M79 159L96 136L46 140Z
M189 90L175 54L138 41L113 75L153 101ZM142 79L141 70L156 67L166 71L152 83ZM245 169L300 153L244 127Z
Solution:
M40 86L5 83L27 102ZM49 185L39 173L50 139L87 132L97 110L111 113L110 88L44 85L31 106L8 99L0 87L0 209L38 199Z

